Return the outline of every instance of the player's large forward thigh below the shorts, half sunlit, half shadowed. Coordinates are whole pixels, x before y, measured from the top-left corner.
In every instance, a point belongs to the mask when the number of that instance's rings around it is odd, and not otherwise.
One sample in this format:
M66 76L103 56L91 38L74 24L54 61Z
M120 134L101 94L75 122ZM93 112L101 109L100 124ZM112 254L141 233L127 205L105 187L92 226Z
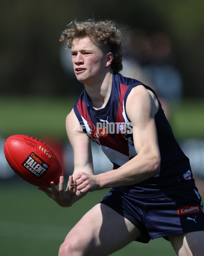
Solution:
M75 244L84 255L108 255L141 235L126 218L105 204L97 204L73 227L65 243Z

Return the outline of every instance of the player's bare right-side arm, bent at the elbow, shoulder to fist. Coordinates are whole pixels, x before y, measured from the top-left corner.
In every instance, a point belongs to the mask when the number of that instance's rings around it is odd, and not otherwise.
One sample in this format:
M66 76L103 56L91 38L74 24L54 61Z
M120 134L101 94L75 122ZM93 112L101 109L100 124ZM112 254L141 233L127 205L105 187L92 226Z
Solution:
M132 185L159 172L160 153L154 121L154 114L158 110L157 104L153 93L145 87L137 86L132 89L126 102L126 112L133 124L133 138L137 155L117 170L96 175L97 189ZM80 175L81 173L77 180L78 189L81 192L91 191L92 188L87 187L80 180Z

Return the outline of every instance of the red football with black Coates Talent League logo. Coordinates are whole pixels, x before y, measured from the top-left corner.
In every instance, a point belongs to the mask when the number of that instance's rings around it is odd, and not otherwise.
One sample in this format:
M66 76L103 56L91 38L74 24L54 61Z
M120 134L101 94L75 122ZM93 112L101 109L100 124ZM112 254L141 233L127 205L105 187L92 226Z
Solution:
M23 180L40 187L59 183L63 169L54 151L43 141L27 135L12 135L4 144L8 164Z

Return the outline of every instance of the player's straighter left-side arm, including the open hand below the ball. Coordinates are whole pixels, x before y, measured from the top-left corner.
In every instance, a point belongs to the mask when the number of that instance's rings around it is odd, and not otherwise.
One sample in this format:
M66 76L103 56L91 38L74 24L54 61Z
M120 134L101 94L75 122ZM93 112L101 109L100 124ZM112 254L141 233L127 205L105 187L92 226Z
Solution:
M66 118L66 130L69 141L73 147L74 151L74 171L73 175L77 175L79 172L83 172L87 177L92 177L92 184L94 187L94 171L92 164L92 154L90 139L83 132L79 131L77 133L73 132L70 128L72 124L77 124L80 128L80 123L72 110ZM86 177L86 179L87 179ZM81 177L83 180L83 176ZM96 182L95 182L96 183ZM69 176L69 182L66 191L64 190L64 177L60 177L59 190L57 190L54 182L50 183L51 190L48 188L38 187L38 189L44 191L48 197L52 198L56 203L62 207L70 207L73 203L81 199L86 195L86 193L81 193L75 186L77 182L74 176Z

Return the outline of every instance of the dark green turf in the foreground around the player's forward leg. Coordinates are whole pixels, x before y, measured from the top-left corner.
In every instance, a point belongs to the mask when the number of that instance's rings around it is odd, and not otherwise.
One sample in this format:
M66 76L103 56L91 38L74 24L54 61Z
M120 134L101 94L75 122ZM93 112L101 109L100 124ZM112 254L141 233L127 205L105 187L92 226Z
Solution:
M21 180L1 182L0 255L58 255L68 231L108 190L89 193L71 208L61 208L37 187ZM94 221L94 220L93 220ZM163 238L148 244L132 242L114 256L174 256Z

